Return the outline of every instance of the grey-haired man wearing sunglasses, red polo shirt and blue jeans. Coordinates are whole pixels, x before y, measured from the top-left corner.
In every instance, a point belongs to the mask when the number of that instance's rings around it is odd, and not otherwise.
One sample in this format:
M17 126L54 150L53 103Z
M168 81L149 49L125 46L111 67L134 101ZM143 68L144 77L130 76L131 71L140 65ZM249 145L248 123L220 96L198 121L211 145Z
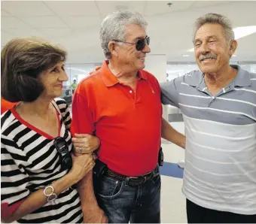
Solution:
M157 79L142 70L151 51L146 26L140 14L108 15L100 30L108 60L75 91L72 133L100 139L93 168L96 198L92 174L78 186L82 207L88 209L86 222L102 222L100 207L111 223L159 223L161 131L164 138L184 147L184 135L162 120Z

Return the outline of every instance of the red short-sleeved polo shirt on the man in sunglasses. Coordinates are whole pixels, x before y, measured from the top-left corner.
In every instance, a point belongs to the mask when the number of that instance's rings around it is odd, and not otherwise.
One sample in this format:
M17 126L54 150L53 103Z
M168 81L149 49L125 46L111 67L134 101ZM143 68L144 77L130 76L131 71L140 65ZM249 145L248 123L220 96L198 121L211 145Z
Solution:
M93 133L100 139L99 159L112 171L130 177L157 165L161 139L160 85L139 71L136 91L102 68L78 84L72 101L72 134Z

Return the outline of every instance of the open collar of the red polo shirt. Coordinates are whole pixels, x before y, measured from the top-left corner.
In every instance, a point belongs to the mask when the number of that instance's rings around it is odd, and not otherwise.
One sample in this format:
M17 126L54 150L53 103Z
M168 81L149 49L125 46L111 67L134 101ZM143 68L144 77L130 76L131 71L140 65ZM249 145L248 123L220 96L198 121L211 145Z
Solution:
M105 60L102 64L102 68L99 69L100 73L102 74L103 82L105 83L105 86L111 87L114 86L117 83L120 83L119 80L117 80L117 77L114 76L114 74L110 71L108 68L108 60ZM147 77L144 72L139 71L139 80L147 80Z

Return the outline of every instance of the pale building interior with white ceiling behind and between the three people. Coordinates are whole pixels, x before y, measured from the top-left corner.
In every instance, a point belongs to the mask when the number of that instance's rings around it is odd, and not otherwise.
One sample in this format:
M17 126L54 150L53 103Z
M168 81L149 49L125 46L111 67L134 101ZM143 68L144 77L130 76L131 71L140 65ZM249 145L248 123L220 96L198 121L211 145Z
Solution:
M238 47L231 64L256 73L256 2L254 1L2 1L1 46L13 38L35 36L64 47L68 52L62 98L72 110L72 83L79 83L105 56L99 44L99 27L117 10L140 12L148 22L151 53L145 70L159 82L197 70L192 43L193 24L203 14L223 14L233 23ZM163 106L163 116L184 133L181 111ZM181 192L184 150L162 141L161 222L187 223ZM181 164L180 166L178 164Z

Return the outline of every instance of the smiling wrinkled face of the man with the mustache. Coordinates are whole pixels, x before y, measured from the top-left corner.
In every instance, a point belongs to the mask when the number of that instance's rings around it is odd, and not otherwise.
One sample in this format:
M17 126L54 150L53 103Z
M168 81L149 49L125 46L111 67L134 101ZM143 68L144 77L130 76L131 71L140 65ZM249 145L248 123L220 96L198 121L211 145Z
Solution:
M217 73L229 65L230 50L224 29L219 24L206 23L197 30L194 39L194 52L197 65L203 73Z

